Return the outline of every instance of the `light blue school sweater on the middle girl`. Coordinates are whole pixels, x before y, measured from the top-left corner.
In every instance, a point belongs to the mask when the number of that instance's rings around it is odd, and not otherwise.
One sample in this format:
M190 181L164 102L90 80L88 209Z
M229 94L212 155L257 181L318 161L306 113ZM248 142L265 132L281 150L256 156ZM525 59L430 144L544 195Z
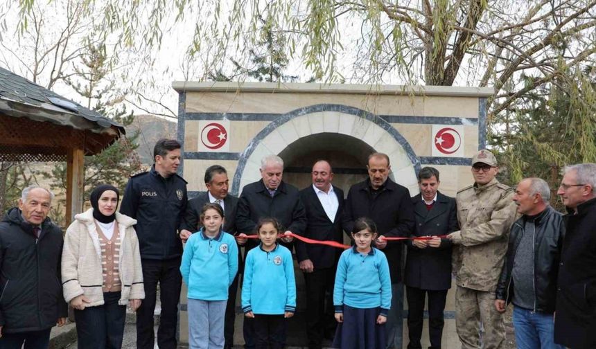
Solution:
M296 280L290 250L277 244L268 252L259 245L248 252L244 268L243 312L280 315L296 311Z

